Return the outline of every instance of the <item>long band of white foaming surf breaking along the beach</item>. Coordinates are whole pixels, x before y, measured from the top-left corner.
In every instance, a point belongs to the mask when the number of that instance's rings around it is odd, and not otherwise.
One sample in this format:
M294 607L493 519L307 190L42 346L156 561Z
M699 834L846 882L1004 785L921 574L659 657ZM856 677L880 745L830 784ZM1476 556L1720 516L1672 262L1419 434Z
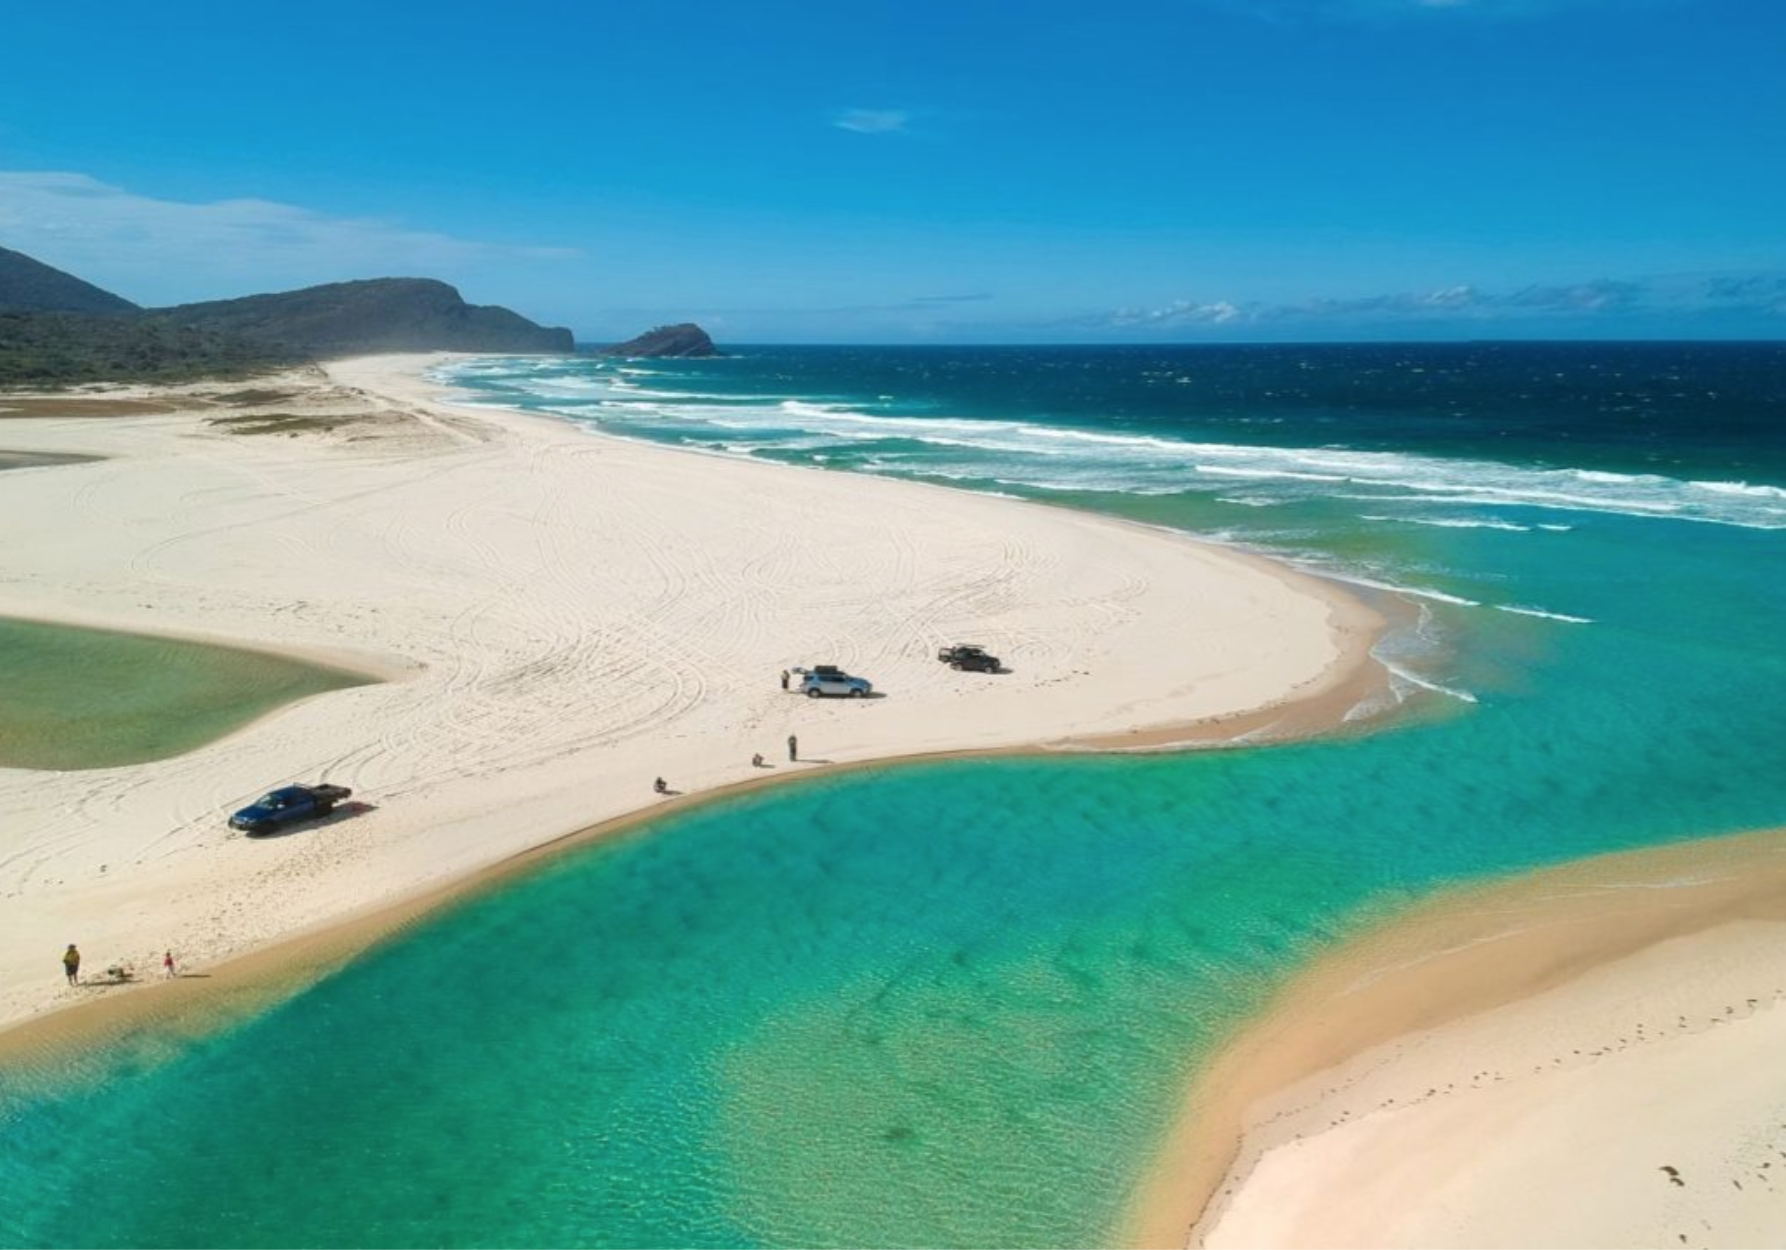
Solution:
M1786 489L1766 484L1331 446L1202 443L902 411L882 396L750 398L686 389L688 380L668 371L588 359L548 366L470 361L450 364L438 377L470 388L479 398L495 391L504 402L550 405L605 430L670 443L725 443L741 455L777 448L811 455L814 446L832 441L838 452L855 448L872 457L870 471L893 475L998 480L1036 491L1207 495L1241 505L1356 500L1375 505L1361 511L1373 520L1507 532L1561 529L1534 518L1509 520L1504 514L1511 509L1786 529ZM1390 507L1409 512L1386 512ZM1481 509L1500 514L1482 516Z

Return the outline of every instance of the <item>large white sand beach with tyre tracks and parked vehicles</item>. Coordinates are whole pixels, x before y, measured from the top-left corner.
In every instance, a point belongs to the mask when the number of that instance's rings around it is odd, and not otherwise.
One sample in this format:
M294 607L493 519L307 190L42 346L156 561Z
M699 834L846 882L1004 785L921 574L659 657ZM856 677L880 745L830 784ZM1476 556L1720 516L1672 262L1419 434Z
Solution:
M63 984L70 941L89 970L164 948L216 964L659 805L659 775L695 796L900 755L1284 730L1323 698L1338 721L1375 668L1373 612L1263 559L455 407L430 359L255 382L329 418L286 432L218 423L241 411L218 386L0 421L9 452L105 457L0 477L0 612L389 677L175 759L0 770L0 1023L93 996ZM961 639L1011 671L938 664ZM814 662L884 696L780 689ZM271 839L225 827L291 780L368 809Z

